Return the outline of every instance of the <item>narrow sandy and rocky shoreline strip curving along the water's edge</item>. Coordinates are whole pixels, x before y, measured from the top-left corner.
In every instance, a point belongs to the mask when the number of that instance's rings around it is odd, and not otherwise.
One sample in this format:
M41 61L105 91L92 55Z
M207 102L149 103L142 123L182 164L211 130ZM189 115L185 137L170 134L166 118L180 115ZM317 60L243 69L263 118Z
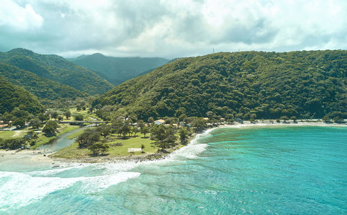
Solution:
M21 157L30 157L30 162L33 163L50 163L56 164L55 167L58 166L69 166L70 164L92 164L92 163L115 163L115 162L148 162L148 161L158 161L164 160L169 157L173 152L180 148L185 148L185 146L189 146L189 144L194 141L194 139L198 138L199 135L203 133L208 133L214 129L218 128L250 128L250 127L282 127L282 126L323 126L323 127L347 127L346 124L341 123L323 123L323 122L301 122L298 121L296 123L277 123L270 121L260 121L257 123L251 123L250 121L244 121L244 123L234 123L234 124L221 124L214 128L208 128L207 130L203 130L200 133L193 133L192 137L189 137L187 144L178 144L172 148L167 149L167 153L159 152L159 153L151 153L148 155L127 155L122 157L108 157L105 156L97 156L97 157L85 157L85 158L60 158L53 157L54 153L47 150L46 152L42 150L22 150L19 152L15 152L15 150L0 150L0 164L2 161L8 161L13 159L19 159ZM35 151L35 153L34 153ZM37 152L37 153L36 153ZM39 153L40 152L40 153ZM57 166L58 165L58 166ZM53 166L52 166L53 167Z

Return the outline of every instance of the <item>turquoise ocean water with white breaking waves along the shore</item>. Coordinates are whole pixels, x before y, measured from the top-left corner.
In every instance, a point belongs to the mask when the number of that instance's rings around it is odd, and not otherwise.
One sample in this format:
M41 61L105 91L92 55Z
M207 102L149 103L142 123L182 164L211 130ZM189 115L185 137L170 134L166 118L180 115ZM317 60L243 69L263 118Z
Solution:
M209 130L156 162L16 171L0 214L347 214L347 127Z

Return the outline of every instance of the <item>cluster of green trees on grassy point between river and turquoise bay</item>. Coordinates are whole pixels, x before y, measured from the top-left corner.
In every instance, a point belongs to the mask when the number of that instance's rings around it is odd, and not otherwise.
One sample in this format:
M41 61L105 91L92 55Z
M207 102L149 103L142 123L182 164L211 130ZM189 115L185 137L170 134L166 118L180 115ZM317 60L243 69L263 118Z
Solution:
M85 130L76 141L79 148L88 148L94 155L99 155L107 153L110 148L108 142L112 139L109 139L108 136L115 134L126 139L141 133L144 137L147 135L154 140L153 145L158 147L159 151L165 151L177 144L186 144L192 132L201 132L208 128L206 121L198 118L194 118L192 121L194 127L187 123L179 123L179 121L175 122L180 126L174 125L174 121L165 126L157 125L151 119L149 121L151 123L145 123L143 120L135 121L130 117L115 117L109 124L101 124L97 128Z

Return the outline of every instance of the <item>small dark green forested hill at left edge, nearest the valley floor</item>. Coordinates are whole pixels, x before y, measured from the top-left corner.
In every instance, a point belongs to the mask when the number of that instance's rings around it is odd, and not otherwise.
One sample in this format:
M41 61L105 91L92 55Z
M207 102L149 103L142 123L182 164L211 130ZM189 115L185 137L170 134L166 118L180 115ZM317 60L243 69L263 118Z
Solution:
M15 107L19 107L19 110L24 110L31 114L38 114L44 111L44 107L42 107L33 94L0 76L0 114L12 112Z

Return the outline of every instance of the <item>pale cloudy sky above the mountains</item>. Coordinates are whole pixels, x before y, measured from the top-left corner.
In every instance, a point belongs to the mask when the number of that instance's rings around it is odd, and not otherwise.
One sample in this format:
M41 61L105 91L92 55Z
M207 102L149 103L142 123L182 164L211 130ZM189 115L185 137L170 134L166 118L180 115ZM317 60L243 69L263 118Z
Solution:
M347 49L347 0L1 0L0 51L177 58Z

